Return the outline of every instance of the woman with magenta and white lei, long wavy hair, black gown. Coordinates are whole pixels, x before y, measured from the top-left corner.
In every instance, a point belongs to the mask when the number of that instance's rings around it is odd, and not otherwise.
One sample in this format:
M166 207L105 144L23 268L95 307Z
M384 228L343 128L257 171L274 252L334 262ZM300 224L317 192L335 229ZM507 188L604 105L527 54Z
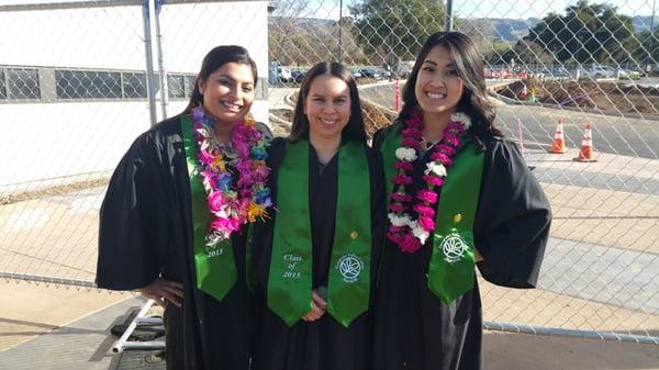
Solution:
M533 288L549 203L493 126L483 65L457 32L426 41L396 122L378 132L389 220L376 300L375 368L482 368L474 264L499 285Z

